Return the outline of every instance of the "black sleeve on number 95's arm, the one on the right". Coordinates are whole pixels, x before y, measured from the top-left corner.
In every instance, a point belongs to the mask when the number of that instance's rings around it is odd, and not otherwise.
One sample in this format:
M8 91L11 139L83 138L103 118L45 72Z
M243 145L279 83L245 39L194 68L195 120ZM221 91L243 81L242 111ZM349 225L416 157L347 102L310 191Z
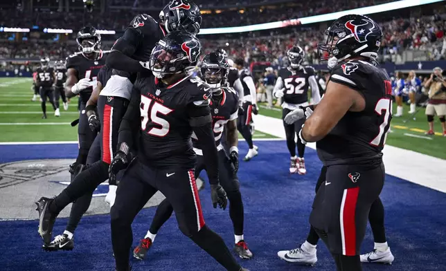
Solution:
M211 109L207 104L197 102L188 106L190 116L190 126L193 128L195 136L203 146L203 156L206 164L209 183L216 185L218 181L218 152L215 146L214 133L212 131ZM122 125L122 124L121 124Z

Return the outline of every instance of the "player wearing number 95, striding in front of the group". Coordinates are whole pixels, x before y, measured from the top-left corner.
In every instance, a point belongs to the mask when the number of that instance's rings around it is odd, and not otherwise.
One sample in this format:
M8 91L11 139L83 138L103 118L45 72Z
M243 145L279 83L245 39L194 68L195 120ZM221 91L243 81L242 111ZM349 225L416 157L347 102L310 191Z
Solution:
M190 80L186 71L195 66L200 52L192 34L170 32L152 50L148 65L152 73L139 73L134 84L119 131L118 151L109 168L109 178L114 180L116 172L128 165L111 208L116 270L129 268L132 221L158 190L172 204L181 232L226 270L244 270L222 238L205 225L195 182L193 133L203 146L213 206L226 207L211 127L211 93L204 91L201 82ZM129 165L130 149L136 151L136 159Z

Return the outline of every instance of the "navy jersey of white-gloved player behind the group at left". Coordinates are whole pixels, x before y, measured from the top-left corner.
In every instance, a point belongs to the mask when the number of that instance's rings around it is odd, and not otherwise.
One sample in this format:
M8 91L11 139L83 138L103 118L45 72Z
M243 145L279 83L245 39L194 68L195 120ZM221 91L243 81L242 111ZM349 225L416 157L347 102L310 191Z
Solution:
M88 59L82 53L75 53L66 58L66 69L74 68L78 73L78 80L89 78L90 86L87 89L80 91L79 96L81 102L87 102L93 91L93 87L98 84L98 73L100 68L105 65L109 51L100 51L98 58Z

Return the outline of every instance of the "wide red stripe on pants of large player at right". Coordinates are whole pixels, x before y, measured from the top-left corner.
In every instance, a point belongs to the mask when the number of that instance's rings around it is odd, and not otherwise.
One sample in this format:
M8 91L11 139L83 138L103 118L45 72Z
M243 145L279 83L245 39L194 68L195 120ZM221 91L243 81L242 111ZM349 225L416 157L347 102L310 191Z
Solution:
M346 191L344 202L343 222L345 238L345 256L356 255L356 203L358 200L359 187L350 188Z

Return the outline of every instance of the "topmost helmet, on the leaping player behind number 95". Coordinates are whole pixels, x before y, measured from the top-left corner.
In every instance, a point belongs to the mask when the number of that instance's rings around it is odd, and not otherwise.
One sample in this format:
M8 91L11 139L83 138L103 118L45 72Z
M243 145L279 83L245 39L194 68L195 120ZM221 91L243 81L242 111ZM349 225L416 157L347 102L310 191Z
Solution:
M160 24L167 32L184 30L197 35L202 24L198 6L193 1L171 0L159 12Z

